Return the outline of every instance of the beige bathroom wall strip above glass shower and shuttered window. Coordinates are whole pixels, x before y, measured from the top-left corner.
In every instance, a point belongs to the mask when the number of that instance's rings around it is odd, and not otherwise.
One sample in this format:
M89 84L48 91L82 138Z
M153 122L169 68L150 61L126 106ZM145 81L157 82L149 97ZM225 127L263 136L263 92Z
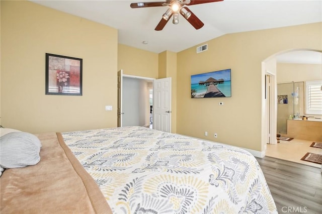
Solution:
M277 63L277 83L322 79L322 65Z

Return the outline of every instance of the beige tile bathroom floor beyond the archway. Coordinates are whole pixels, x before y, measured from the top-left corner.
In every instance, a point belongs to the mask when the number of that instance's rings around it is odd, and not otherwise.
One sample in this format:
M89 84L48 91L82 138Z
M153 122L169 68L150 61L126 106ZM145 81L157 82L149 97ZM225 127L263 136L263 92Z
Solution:
M310 147L312 142L298 139L291 141L280 140L280 143L275 145L267 144L266 156L321 168L321 164L301 160L307 152L322 155L322 149Z

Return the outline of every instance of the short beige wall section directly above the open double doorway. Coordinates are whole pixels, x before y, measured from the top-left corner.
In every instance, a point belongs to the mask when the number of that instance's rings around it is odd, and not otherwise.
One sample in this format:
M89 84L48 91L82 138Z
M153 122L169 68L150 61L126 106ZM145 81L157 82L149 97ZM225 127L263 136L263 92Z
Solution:
M158 78L158 54L127 45L118 45L118 70L123 74Z

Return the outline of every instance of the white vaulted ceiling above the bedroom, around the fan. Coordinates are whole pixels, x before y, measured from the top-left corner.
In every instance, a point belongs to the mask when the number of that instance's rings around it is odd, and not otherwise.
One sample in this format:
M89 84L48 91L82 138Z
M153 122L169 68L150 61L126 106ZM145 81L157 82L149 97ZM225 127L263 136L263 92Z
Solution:
M162 31L154 31L168 7L131 9L142 1L32 1L68 14L118 29L120 44L160 53L179 52L224 34L322 22L322 1L224 0L189 6L205 24L195 30L182 16L179 24L169 21ZM148 44L142 44L147 41Z

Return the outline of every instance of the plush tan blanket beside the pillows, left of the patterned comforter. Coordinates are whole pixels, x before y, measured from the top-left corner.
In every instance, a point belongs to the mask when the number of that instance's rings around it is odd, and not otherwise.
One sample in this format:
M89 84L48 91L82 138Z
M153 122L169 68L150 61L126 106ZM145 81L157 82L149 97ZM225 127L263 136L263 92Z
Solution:
M0 178L1 213L112 213L98 185L60 133L36 135L41 160Z

